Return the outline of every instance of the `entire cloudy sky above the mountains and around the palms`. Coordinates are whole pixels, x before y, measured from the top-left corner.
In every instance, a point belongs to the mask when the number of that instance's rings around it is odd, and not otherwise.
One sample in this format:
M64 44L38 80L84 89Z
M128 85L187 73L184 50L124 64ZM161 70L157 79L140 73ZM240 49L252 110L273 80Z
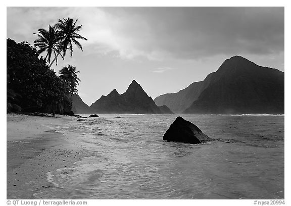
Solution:
M132 80L153 99L175 93L235 55L284 71L283 7L7 7L7 38L33 45L39 28L68 17L88 40L52 68L77 67L89 106Z

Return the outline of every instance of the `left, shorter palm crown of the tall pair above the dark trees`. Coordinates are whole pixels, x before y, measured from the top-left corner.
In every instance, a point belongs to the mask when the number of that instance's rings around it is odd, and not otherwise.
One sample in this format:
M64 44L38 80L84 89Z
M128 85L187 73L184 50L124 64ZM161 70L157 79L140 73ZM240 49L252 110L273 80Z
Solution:
M58 53L60 49L61 36L60 36L60 32L56 29L55 26L49 25L49 27L50 27L49 31L45 29L38 29L39 34L33 33L33 34L38 35L38 38L33 43L34 43L34 46L39 48L39 50L37 51L38 55L43 52L47 52L44 60L46 61L46 58L47 58L47 62L50 63L52 54L55 55L55 59L57 57L56 53Z

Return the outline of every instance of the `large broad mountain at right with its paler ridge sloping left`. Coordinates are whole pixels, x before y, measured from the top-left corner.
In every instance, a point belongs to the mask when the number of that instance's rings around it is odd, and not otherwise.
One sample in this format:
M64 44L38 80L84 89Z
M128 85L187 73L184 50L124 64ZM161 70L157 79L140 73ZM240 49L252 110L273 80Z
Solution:
M284 72L235 56L204 81L155 102L183 114L284 114Z

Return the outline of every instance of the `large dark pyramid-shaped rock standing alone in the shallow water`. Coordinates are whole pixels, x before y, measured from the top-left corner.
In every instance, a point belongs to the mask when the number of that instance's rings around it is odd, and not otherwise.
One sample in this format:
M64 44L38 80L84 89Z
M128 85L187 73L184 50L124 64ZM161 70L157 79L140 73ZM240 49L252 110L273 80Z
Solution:
M163 140L199 144L211 140L196 125L177 117L163 136Z

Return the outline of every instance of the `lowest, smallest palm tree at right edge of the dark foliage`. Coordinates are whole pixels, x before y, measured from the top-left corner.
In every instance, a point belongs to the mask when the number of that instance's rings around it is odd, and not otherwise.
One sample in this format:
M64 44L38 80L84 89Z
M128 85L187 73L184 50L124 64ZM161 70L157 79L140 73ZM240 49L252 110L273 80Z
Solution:
M76 89L77 85L79 85L79 81L77 73L80 71L76 71L76 67L73 65L68 65L67 67L63 67L59 73L61 74L59 77L67 84L69 89L69 93L71 93L71 97L73 94L78 93L78 89Z

